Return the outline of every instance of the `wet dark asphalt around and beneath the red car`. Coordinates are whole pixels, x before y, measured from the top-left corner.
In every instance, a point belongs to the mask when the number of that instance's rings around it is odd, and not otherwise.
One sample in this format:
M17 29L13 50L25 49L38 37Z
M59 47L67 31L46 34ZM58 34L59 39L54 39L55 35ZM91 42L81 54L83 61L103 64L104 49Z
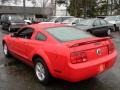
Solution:
M34 70L16 58L5 58L2 52L2 37L8 32L0 30L0 90L120 90L120 55L108 71L78 83L54 80L44 86L35 78ZM120 32L112 33L120 53Z

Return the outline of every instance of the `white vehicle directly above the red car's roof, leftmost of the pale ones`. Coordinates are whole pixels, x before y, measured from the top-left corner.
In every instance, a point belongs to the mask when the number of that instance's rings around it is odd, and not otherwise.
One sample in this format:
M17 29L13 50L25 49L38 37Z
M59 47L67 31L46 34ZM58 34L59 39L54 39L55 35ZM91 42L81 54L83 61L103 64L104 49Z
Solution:
M64 20L73 18L73 16L51 16L47 19L46 22L50 23L62 23Z

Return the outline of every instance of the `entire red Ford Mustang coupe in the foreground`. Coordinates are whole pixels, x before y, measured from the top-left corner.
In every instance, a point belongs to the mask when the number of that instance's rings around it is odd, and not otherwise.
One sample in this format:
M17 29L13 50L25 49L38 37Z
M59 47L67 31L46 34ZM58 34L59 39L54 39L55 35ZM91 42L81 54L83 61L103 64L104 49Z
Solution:
M33 66L43 84L51 76L71 82L94 77L112 67L117 57L110 38L50 23L25 26L6 35L3 51Z

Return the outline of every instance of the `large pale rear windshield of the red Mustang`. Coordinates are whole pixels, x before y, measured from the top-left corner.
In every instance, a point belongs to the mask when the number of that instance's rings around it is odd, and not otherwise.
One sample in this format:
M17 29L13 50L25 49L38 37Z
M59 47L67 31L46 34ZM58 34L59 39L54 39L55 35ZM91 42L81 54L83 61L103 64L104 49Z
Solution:
M46 31L61 42L68 42L93 37L87 32L84 32L74 27L55 27L48 28Z

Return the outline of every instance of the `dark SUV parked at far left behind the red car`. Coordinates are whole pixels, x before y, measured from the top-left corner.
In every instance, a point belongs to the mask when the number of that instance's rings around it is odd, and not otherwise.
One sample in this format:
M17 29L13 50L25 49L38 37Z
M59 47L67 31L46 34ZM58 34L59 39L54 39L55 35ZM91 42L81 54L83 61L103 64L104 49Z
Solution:
M2 29L6 29L9 32L26 25L23 17L19 15L2 15L1 22Z

